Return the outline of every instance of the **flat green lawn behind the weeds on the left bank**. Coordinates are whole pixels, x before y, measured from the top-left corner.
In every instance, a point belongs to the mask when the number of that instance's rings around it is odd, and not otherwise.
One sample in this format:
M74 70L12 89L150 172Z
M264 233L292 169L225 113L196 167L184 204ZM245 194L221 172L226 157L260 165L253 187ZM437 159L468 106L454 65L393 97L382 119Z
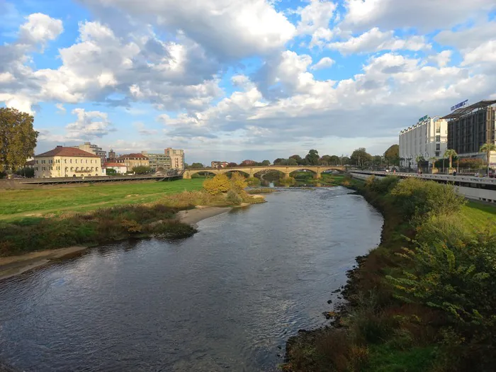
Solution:
M164 194L199 190L203 179L91 184L77 187L0 191L0 220L113 205L150 203Z

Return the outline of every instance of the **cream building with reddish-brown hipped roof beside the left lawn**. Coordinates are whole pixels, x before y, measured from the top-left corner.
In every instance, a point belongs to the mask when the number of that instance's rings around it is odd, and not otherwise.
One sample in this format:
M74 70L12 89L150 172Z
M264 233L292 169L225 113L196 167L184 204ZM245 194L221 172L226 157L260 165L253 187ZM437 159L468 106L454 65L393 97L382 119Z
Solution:
M35 177L101 176L101 157L77 147L57 146L35 155Z

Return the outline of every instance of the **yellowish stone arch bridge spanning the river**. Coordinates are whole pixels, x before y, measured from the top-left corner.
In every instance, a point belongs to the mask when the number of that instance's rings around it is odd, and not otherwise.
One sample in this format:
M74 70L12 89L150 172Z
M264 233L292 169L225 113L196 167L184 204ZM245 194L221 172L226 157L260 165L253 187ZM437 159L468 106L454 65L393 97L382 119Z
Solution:
M205 169L186 169L183 174L184 179L191 179L191 176L196 173L209 172L213 174L222 174L230 171L239 171L247 174L249 177L254 177L260 171L280 171L285 177L289 177L293 171L312 171L316 179L320 179L325 171L346 171L346 167L339 165L266 165L254 167L233 167L233 168L205 168Z

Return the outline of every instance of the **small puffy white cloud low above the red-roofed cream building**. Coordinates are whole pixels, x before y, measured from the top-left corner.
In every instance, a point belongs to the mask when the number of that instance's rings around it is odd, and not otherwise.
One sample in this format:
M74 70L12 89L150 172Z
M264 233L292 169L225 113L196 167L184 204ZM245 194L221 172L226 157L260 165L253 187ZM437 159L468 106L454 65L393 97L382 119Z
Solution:
M108 120L107 113L101 111L85 111L84 108L74 108L73 115L77 115L74 123L66 125L68 138L78 140L92 140L95 137L103 137L115 131L112 123Z

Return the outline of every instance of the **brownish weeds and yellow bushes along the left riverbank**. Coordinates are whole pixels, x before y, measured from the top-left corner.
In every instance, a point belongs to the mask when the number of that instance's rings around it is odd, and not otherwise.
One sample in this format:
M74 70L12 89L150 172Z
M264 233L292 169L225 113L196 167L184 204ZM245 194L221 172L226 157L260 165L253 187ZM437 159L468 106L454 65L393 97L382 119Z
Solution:
M261 203L245 191L241 176L232 176L221 188L211 188L214 179L205 181L201 191L164 195L153 203L100 208L88 213L63 213L52 217L0 220L0 256L24 254L43 249L92 245L129 237L161 235L182 238L194 234L190 225L179 222L179 210L196 205L227 207L242 203ZM218 180L215 180L217 182Z

